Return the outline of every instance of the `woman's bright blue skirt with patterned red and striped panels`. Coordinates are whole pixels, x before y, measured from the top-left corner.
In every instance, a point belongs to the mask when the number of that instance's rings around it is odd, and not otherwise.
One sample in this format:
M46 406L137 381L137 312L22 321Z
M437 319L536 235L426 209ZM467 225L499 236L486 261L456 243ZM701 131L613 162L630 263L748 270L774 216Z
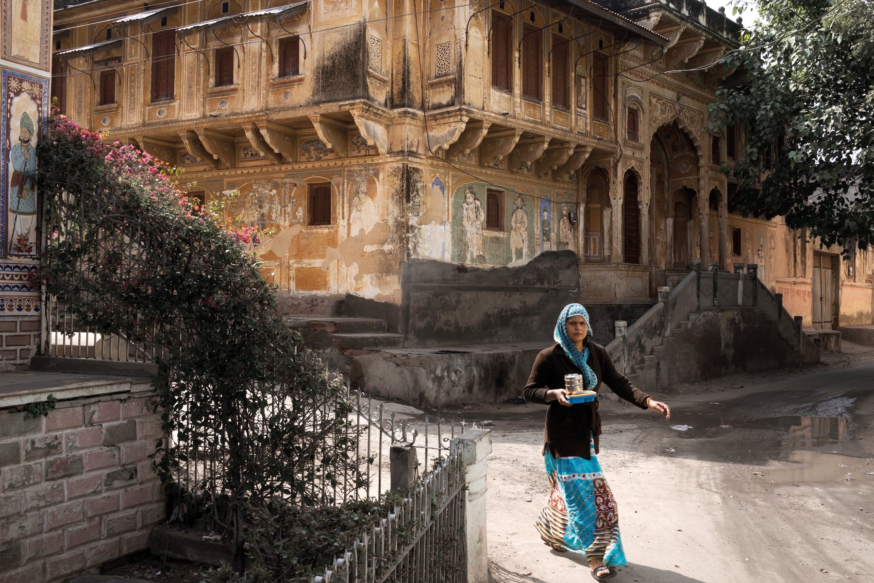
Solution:
M602 559L607 566L625 566L619 536L619 514L613 492L604 479L592 445L592 459L553 458L544 453L551 491L537 521L545 543L579 552L586 560Z

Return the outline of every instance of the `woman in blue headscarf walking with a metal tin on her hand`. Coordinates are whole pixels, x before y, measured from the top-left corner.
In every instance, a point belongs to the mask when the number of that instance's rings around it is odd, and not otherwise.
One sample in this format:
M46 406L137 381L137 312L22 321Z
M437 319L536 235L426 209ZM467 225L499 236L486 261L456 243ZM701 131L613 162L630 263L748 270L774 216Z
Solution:
M626 565L619 536L619 514L596 455L601 433L598 399L572 405L565 398L565 375L579 374L586 389L600 383L642 409L670 419L670 409L631 384L616 370L607 350L591 341L589 315L579 303L565 306L553 337L531 368L524 397L547 405L544 462L551 484L549 500L537 521L540 538L557 551L580 552L596 580L609 579Z

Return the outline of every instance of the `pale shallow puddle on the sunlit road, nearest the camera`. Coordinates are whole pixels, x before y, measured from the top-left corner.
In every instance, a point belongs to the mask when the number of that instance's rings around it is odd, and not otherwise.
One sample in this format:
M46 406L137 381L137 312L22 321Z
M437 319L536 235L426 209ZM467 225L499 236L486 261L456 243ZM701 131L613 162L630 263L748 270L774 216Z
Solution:
M777 483L844 482L854 485L874 483L874 476L865 475L865 472L874 470L874 460L866 460L864 457L794 451L781 460L796 467L764 469L758 480ZM843 480L847 474L852 475L849 482Z

